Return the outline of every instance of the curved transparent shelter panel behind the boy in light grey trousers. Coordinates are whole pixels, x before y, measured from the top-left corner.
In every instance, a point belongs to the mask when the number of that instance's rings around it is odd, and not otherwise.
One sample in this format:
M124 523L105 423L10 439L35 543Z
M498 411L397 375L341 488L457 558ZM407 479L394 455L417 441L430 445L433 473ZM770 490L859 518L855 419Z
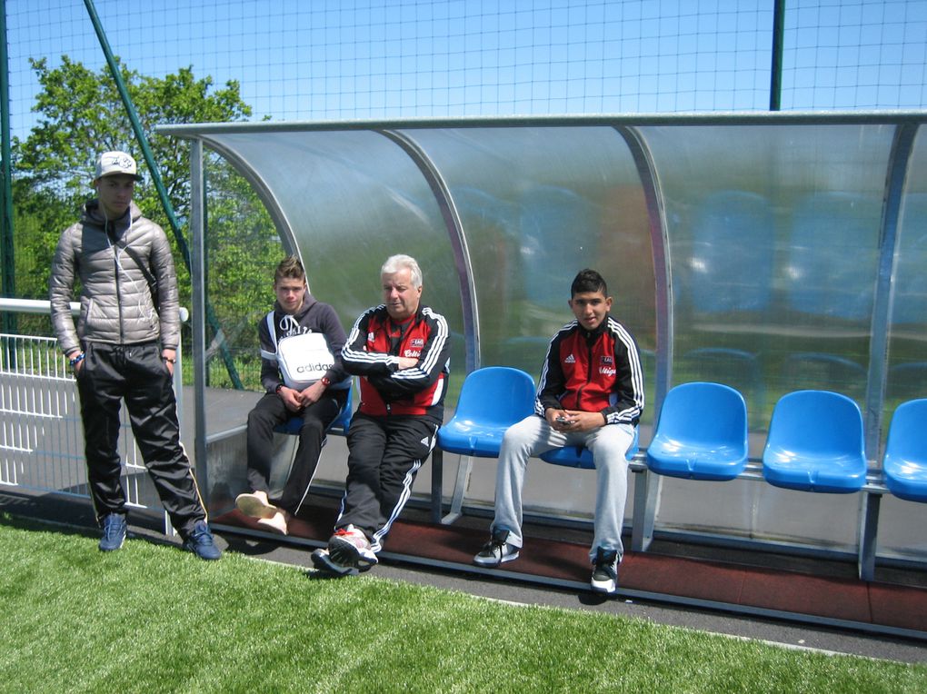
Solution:
M482 364L540 374L573 316L570 283L600 271L613 315L655 349L653 253L641 181L612 128L407 131L440 171L460 217L476 289ZM645 360L648 385L653 361ZM648 412L648 416L652 413Z

